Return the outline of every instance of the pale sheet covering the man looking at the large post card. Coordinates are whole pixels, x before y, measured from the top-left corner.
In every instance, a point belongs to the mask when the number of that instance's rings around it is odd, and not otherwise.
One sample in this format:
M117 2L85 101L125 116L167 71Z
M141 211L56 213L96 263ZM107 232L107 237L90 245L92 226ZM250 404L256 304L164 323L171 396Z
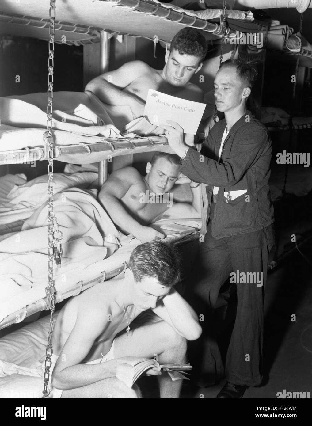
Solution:
M46 105L46 93L0 98L0 151L43 147ZM91 92L53 93L55 145L123 138L118 129L132 120L130 107L104 104ZM8 158L7 162L12 161Z

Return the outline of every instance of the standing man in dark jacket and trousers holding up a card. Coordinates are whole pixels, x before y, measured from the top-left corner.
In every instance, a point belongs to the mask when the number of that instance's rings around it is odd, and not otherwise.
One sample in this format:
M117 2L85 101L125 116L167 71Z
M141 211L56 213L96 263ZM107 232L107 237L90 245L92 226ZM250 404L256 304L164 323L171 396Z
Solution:
M266 127L246 109L256 77L250 63L222 63L214 96L225 119L209 132L207 156L185 144L178 124L168 121L170 126L162 126L170 147L181 157L180 172L206 184L205 237L189 283L191 294L211 311L220 306L224 282L231 277L230 282L237 284L236 319L225 362L227 382L217 398L241 398L248 386L262 381L263 284L268 251L274 245L274 217L268 184L272 142ZM197 313L205 313L199 306ZM205 328L211 324L205 323L204 334ZM211 359L213 368L220 366L216 355Z

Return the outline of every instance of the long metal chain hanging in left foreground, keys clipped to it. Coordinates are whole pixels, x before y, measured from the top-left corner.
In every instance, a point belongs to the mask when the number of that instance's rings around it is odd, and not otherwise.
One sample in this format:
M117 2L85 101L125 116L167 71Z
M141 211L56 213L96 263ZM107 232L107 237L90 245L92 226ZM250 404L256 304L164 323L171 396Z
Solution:
M49 300L51 318L50 318L50 327L49 327L49 337L48 344L46 347L46 360L44 362L45 372L43 379L43 398L46 397L48 390L48 383L50 378L50 368L51 368L51 357L53 354L52 348L52 333L55 323L53 318L53 313L55 311L55 288L53 282L53 138L52 138L52 102L53 102L53 67L54 67L54 34L55 34L55 1L50 0L50 25L49 25L49 58L48 58L48 106L47 106L47 121L46 121L46 132L48 140L48 230L49 230L49 248L48 248L48 281L49 286L46 288L46 295Z

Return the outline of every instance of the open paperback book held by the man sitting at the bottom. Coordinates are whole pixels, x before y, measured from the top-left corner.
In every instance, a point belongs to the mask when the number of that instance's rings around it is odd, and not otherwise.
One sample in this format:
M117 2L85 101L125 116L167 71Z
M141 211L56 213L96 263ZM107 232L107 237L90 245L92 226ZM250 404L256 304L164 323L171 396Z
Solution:
M190 364L163 364L159 363L151 358L136 358L136 357L124 357L118 360L118 367L116 371L116 377L121 382L125 383L129 388L132 388L133 383L141 376L144 371L149 368L156 367L159 371L167 371L171 380L188 379L185 376L185 371L191 370ZM184 373L184 374L182 374Z

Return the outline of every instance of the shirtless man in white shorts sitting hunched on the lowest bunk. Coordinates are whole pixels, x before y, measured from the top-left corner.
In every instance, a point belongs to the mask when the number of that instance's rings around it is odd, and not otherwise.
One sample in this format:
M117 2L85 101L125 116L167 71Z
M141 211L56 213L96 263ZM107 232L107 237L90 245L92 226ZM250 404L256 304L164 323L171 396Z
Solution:
M137 246L125 274L94 285L62 308L53 333L50 398L140 398L116 378L122 357L154 358L160 364L185 363L186 340L202 329L196 314L173 289L179 261L172 245L152 241ZM151 308L159 322L131 322ZM129 335L120 334L130 327ZM51 372L50 371L50 372ZM179 398L182 380L150 368L161 398ZM50 376L51 377L51 376Z

